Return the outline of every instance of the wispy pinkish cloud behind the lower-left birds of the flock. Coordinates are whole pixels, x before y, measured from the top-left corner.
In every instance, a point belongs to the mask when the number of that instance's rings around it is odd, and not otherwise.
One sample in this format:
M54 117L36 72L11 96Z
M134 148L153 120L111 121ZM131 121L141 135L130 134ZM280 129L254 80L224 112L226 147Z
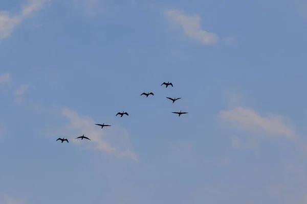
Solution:
M123 127L111 124L112 126L101 129L95 125L97 122L92 118L80 116L76 111L69 108L64 108L62 114L69 119L69 123L53 134L54 136L68 138L73 144L87 145L87 148L101 150L106 154L138 161L137 155L130 150L131 147L128 147L128 133ZM76 136L83 134L89 137L91 141L75 139ZM116 143L116 147L112 146L107 140Z

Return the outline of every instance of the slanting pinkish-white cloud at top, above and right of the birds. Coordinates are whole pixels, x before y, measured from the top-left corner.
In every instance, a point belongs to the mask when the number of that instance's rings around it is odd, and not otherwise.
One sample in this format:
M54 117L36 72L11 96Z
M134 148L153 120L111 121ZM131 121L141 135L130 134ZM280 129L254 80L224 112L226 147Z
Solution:
M171 9L166 11L165 16L174 25L181 25L184 33L203 44L213 44L219 40L215 33L202 30L201 18L198 15L187 15L181 10Z

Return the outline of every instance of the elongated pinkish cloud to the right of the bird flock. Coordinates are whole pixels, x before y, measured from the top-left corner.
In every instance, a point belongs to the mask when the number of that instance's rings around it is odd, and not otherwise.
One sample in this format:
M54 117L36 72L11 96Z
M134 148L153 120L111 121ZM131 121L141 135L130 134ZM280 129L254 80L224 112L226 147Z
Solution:
M229 111L220 111L218 117L231 122L238 129L252 132L262 131L286 138L296 137L295 131L285 123L286 118L281 115L269 114L267 117L263 117L251 109L236 107Z

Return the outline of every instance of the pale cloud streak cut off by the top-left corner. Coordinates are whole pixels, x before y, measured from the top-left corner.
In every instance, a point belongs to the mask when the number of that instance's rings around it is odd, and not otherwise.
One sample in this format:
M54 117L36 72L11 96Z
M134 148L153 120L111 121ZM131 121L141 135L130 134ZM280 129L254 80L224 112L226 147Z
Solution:
M35 11L43 8L43 5L50 0L28 0L21 9L19 15L11 16L8 11L0 11L0 40L10 37L16 26L24 19L31 16Z

